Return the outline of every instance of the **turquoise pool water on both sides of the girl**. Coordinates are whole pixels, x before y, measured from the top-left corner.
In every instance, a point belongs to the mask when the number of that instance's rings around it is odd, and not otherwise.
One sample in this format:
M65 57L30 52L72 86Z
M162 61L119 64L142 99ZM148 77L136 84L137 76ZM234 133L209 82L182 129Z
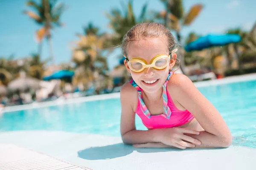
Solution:
M233 145L256 148L256 80L198 89L227 122ZM119 98L15 111L0 116L0 132L64 130L120 136L120 113ZM136 127L146 130L138 116Z

